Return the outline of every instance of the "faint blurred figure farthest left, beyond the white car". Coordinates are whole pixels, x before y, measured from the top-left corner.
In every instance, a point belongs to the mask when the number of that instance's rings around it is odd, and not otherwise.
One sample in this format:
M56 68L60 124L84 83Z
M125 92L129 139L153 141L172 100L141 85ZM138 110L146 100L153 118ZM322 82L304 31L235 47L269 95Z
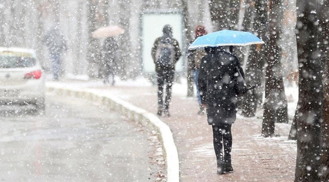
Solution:
M43 42L46 44L52 62L54 80L58 80L61 71L61 57L67 51L65 37L61 34L57 25L53 26L45 35Z

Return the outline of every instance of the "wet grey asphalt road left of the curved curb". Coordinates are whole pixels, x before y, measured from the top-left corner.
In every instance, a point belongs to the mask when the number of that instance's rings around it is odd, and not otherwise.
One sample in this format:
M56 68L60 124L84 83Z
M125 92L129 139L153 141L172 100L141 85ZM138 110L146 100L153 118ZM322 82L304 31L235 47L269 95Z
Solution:
M0 110L1 181L156 178L148 134L106 108L48 95L43 115Z

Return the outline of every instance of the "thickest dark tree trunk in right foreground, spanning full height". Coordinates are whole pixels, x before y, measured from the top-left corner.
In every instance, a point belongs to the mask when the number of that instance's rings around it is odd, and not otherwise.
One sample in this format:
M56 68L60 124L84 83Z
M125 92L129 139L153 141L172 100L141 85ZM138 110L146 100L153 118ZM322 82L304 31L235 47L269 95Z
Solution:
M320 3L297 0L297 53L299 62L299 105L295 182L320 181L322 68L318 13Z

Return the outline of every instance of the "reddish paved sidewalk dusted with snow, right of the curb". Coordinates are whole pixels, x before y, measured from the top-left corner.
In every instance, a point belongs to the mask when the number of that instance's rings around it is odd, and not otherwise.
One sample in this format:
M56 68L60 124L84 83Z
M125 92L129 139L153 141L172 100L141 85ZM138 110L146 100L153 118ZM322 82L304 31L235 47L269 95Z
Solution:
M79 82L79 81L77 81ZM76 82L75 82L76 83ZM83 81L81 81L83 84ZM102 89L151 113L157 111L156 86L88 85ZM160 119L171 128L180 161L180 181L294 181L296 143L287 141L289 124L276 125L281 137L260 136L262 120L237 116L232 125L232 166L234 171L216 174L212 128L206 116L197 115L196 99L174 92L170 118ZM258 113L258 118L262 117Z

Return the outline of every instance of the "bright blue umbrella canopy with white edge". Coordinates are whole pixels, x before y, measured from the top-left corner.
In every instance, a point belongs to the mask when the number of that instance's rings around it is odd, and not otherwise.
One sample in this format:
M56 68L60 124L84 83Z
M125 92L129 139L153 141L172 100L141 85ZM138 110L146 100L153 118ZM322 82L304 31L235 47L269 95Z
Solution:
M203 35L194 40L189 50L205 47L218 47L226 45L251 45L264 43L256 35L245 31L221 30Z

